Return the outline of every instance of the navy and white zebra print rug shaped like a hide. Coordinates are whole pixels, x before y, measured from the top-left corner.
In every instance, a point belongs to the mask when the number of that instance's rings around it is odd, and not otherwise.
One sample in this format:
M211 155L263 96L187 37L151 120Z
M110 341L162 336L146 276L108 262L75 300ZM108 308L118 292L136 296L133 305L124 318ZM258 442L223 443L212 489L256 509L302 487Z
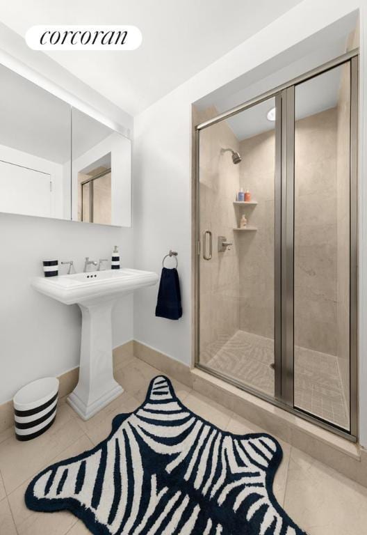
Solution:
M281 460L270 435L221 431L160 375L106 440L47 467L25 499L71 511L96 535L301 535L272 493Z

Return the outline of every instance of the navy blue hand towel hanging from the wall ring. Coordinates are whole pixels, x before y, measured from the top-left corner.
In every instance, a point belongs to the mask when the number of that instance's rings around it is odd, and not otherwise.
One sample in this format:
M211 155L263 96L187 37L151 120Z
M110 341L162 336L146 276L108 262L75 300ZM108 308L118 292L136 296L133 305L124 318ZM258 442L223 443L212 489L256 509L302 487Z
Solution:
M174 267L163 267L159 283L156 316L168 320L178 320L182 316L179 274Z

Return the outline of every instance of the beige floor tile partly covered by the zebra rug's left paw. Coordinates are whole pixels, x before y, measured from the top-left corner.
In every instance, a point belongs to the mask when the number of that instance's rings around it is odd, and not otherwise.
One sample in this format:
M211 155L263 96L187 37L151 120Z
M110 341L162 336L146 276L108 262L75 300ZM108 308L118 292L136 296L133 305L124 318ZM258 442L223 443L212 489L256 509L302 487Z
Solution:
M47 465L57 463L59 460L79 455L80 453L83 453L83 451L91 449L92 447L93 444L90 439L86 435L82 435L79 440L74 442L74 444L65 449L55 458L51 459L48 463L45 463L40 470L47 467ZM33 474L32 477L34 475L35 474ZM13 490L13 493L8 496L10 508L19 535L48 535L49 533L65 534L67 529L70 529L74 522L76 522L74 515L67 513L67 511L63 514L38 513L36 511L31 511L26 507L24 493L26 492L26 488L31 482L32 477L27 479L27 481L22 483L17 489ZM56 529L53 527L53 524L59 524L57 528L58 531L52 531L52 529Z

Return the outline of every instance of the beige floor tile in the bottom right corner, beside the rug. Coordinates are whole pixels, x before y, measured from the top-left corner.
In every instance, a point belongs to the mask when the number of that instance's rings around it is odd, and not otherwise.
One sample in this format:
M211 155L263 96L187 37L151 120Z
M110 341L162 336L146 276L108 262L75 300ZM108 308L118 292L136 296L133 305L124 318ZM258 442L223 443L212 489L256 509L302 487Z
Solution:
M309 535L367 532L367 488L292 448L284 507Z

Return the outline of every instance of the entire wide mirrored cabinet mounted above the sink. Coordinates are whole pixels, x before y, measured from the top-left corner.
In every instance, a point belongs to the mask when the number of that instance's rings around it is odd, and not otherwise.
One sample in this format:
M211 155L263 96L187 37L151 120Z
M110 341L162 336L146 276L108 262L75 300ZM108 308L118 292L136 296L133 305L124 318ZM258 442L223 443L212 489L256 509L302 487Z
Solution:
M0 65L0 212L131 226L131 141Z

